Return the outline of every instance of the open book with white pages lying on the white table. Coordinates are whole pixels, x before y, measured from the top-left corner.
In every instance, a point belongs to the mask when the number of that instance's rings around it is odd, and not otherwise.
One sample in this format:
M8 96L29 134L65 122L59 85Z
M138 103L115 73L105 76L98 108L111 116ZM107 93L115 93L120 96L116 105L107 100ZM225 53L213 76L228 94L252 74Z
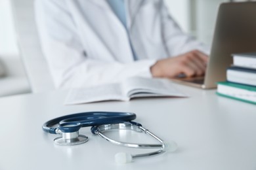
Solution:
M121 83L70 90L66 105L96 101L129 101L135 97L187 97L173 87L170 80L161 78L131 77Z

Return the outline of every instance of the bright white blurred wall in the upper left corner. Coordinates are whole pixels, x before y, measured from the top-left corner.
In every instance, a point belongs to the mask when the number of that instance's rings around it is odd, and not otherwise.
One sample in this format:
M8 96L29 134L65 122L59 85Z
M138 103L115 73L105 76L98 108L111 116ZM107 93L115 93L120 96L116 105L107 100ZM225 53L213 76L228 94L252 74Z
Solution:
M1 55L18 56L18 47L14 34L14 23L9 0L0 0L0 56Z

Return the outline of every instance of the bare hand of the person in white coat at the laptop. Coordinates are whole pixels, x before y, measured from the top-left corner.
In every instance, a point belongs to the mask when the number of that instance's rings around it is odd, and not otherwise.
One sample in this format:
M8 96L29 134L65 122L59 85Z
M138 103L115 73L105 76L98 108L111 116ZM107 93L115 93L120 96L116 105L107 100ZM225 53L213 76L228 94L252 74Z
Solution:
M152 76L161 78L174 78L180 74L188 77L202 76L205 73L207 61L207 55L194 50L175 58L161 59L150 67L150 71Z

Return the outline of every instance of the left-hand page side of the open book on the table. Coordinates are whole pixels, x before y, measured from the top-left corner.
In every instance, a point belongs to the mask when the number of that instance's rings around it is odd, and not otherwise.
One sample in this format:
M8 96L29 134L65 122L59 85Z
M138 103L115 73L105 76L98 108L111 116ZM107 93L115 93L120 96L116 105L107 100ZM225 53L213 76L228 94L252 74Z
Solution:
M65 104L74 105L109 100L128 101L129 98L123 95L120 84L106 84L91 88L72 89L66 97Z

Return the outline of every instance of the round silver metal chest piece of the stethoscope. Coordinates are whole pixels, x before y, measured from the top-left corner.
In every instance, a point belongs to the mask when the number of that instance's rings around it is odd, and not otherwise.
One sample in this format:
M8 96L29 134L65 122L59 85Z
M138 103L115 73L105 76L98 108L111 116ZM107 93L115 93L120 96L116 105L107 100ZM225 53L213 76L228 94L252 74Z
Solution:
M78 131L72 133L62 133L62 137L54 139L54 143L61 146L73 146L77 144L83 144L88 141L88 137L85 135L79 135Z

